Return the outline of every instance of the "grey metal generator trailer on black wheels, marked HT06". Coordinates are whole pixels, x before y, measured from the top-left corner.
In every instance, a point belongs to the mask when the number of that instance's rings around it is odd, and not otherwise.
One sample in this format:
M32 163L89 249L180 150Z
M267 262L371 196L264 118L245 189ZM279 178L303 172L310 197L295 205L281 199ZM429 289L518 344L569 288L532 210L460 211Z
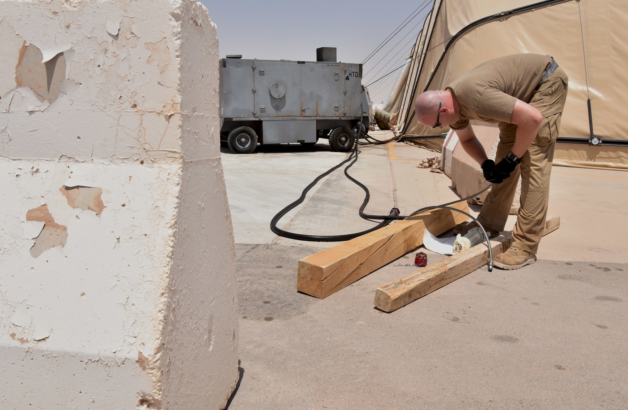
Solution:
M369 128L361 64L229 57L220 60L219 117L220 139L233 152L250 154L258 142L313 145L319 137L348 151L360 119Z

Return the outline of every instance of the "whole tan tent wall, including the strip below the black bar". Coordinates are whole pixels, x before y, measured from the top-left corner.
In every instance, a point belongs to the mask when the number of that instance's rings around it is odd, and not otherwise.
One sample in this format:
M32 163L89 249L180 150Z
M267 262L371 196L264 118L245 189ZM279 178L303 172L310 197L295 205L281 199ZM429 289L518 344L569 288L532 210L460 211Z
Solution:
M628 1L580 0L580 3L595 135L603 140L626 140ZM477 19L528 4L533 2L436 0L413 51L413 63L401 97L396 129L405 130L404 135L434 134L435 130L418 123L414 117L413 100L425 90L448 40ZM561 137L588 138L587 87L577 1L504 16L471 29L450 46L428 89L442 90L470 68L491 58L515 53L551 55L563 67L570 81ZM557 144L554 163L628 170L628 147Z

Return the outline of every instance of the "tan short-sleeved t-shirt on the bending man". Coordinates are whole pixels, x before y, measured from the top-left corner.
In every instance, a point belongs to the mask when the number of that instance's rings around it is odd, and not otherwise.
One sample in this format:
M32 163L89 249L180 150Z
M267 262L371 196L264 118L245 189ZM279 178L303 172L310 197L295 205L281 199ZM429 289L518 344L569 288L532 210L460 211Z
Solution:
M468 120L510 122L517 99L529 102L550 64L551 56L513 54L467 71L445 88L460 105L460 120L450 127L466 128Z

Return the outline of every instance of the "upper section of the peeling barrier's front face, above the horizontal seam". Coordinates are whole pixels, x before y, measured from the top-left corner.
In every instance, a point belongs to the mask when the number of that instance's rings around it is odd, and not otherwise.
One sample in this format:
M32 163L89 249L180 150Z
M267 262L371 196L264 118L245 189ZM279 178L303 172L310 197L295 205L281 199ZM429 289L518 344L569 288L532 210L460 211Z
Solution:
M30 18L20 19L22 13ZM105 24L101 18L106 19ZM46 24L28 24L38 19ZM190 19L198 24L195 19L199 18ZM0 115L4 142L0 156L87 157L110 162L180 157L176 130L198 115L216 118L210 114L215 107L210 109L212 103L202 98L181 107L177 93L182 70L179 42L185 34L178 27L180 20L181 14L165 4L146 13L134 3L53 1L38 8L32 3L4 2L0 33L5 44L0 68L14 75L0 80L0 114L4 114ZM160 24L172 26L173 35L164 36L154 29ZM94 28L89 36L84 35L86 27ZM210 49L201 54L212 53ZM217 76L217 72L207 74L208 78ZM56 103L51 109L52 102ZM70 114L72 121L50 127L54 124L51 118L62 111ZM29 116L33 112L41 115ZM9 113L13 115L6 115ZM92 127L111 132L99 139ZM217 153L208 137L212 130L196 131L198 149L203 151L209 145ZM11 142L10 135L24 133L31 139L52 134L57 137L56 144L32 145L23 139ZM73 138L65 139L66 135Z

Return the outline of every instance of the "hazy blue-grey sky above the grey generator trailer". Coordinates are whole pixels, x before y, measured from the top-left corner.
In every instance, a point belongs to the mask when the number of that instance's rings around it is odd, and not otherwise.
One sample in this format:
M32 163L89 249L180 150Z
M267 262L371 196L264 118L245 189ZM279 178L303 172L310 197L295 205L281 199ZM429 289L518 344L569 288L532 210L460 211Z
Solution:
M415 9L424 8L367 61L362 80L366 85L403 64L433 2L202 0L201 3L218 28L220 58L241 54L242 58L316 61L318 47L336 47L338 60L347 63L362 63ZM388 51L391 53L385 56ZM369 87L373 102L386 99L395 76L396 73L389 75L386 81Z

